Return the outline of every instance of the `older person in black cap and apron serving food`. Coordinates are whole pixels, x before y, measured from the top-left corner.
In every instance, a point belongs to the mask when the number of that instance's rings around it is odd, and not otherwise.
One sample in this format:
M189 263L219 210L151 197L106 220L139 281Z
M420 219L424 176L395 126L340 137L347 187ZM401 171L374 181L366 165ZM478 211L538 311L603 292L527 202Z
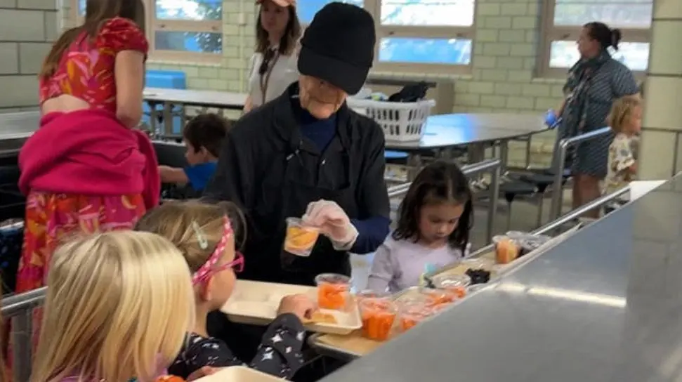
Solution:
M350 275L348 251L370 253L388 235L383 131L346 105L374 44L367 11L327 4L301 39L299 81L228 132L204 197L247 215L244 278L313 285L320 273ZM282 249L286 219L303 215L322 233L310 257Z

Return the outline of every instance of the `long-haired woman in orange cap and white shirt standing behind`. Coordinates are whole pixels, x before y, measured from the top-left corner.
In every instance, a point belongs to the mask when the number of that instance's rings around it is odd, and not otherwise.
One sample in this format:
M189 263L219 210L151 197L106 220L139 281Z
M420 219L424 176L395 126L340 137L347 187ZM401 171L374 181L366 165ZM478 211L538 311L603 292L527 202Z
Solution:
M299 80L296 44L301 37L301 24L295 0L258 0L257 4L261 8L245 113L278 97L289 84Z

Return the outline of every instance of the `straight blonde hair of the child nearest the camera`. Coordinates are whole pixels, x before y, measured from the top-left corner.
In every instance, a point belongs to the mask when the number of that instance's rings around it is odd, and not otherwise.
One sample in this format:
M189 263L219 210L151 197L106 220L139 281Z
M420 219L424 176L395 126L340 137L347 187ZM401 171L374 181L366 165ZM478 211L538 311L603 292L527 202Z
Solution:
M48 275L32 382L150 381L194 325L190 272L146 232L106 232L61 246Z

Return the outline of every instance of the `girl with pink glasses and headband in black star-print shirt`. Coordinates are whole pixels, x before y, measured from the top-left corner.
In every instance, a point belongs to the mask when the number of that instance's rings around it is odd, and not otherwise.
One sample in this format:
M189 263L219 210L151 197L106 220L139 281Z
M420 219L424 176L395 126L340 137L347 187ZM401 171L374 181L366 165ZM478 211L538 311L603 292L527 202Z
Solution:
M169 367L171 374L189 378L206 367L240 365L221 339L206 329L209 312L220 309L235 286L235 272L241 272L244 256L235 251L243 216L232 204L209 205L199 202L170 202L143 216L136 230L154 232L169 239L185 256L192 272L196 324L187 334L180 355ZM305 331L301 320L310 316L313 303L303 295L282 298L278 316L262 338L249 367L268 374L290 378L301 367L301 347Z

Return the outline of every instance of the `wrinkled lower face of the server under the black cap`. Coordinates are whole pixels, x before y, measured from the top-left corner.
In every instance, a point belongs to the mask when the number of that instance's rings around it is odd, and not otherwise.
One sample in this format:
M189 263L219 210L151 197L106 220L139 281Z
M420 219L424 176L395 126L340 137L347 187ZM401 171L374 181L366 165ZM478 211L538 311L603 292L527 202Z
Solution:
M313 117L327 119L339 110L339 107L346 101L348 94L327 81L301 75L299 78L299 97L301 98L301 107L313 114Z

